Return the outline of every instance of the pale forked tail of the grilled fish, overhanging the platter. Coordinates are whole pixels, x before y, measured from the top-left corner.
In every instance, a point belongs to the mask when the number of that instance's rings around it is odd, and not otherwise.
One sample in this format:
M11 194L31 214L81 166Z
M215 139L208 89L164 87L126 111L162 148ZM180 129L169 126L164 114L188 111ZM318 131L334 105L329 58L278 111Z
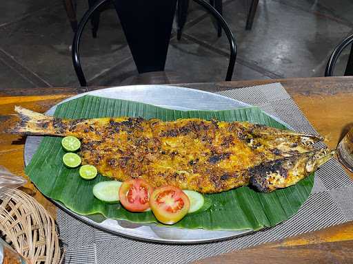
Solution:
M43 115L23 107L15 106L19 122L6 132L19 135L65 135L61 118Z

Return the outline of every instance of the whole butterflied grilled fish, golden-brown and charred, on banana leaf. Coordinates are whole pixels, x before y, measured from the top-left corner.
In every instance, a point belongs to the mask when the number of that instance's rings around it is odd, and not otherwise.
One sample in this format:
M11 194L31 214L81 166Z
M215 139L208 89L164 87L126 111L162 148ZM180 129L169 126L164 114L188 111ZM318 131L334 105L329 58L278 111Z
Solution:
M61 119L15 107L21 122L10 133L73 135L83 164L124 181L214 193L240 186L270 192L296 184L334 151L317 150L315 135L249 122L143 118Z

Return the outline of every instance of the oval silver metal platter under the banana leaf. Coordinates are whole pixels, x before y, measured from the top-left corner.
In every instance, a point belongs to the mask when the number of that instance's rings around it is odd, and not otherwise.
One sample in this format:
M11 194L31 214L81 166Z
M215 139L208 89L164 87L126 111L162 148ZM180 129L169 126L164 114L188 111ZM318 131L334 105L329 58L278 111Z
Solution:
M159 107L177 110L223 110L234 109L238 107L248 107L249 104L233 100L231 98L212 94L207 91L200 91L184 87L173 87L168 85L132 85L122 87L111 87L96 91L89 91L84 94L73 96L63 102L79 98L85 95L101 96L105 98L115 98L123 100L132 100L137 102L145 102L154 104ZM58 105L58 104L57 104ZM49 109L46 114L52 115L57 107L55 105ZM273 117L274 118L274 117ZM278 118L274 118L278 120ZM279 122L281 122L279 120ZM282 122L283 123L283 122ZM288 126L288 124L285 124ZM25 164L30 163L33 154L37 151L39 143L43 137L30 136L26 139L24 160ZM203 229L180 229L172 227L164 227L156 224L137 224L129 221L119 221L114 219L105 219L101 214L81 215L72 212L62 203L52 200L59 208L70 214L71 216L93 225L96 228L129 236L134 239L155 241L162 243L204 243L209 241L219 241L229 239L235 236L241 236L253 232L252 230L237 231L212 231Z

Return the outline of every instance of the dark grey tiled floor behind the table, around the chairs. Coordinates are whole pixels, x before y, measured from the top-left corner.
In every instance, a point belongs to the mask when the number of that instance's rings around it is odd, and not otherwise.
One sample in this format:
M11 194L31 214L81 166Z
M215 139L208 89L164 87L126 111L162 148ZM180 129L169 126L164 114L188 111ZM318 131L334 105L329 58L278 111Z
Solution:
M245 31L250 0L225 0L223 14L238 44L233 80L323 76L334 47L353 32L351 0L260 0ZM88 8L78 1L78 16ZM0 3L0 89L79 85L72 67L70 23L61 0ZM81 58L90 85L139 83L137 69L114 10L101 14L99 38L85 32ZM228 41L190 3L183 39L172 35L165 71L170 83L223 80ZM343 69L345 57L337 67Z

